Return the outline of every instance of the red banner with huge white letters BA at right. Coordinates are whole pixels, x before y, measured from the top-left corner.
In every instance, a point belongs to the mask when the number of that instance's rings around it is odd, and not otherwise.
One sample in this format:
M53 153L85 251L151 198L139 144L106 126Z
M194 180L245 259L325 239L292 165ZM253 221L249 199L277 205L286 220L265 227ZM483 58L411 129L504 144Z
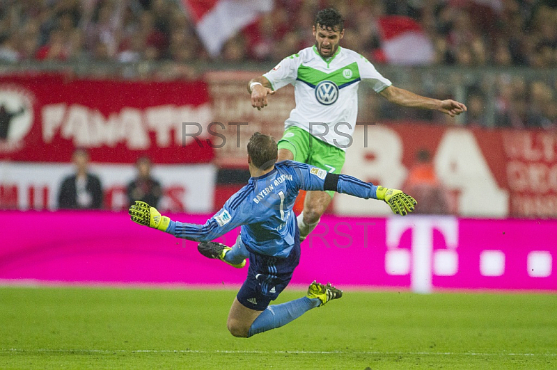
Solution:
M448 213L480 217L557 217L557 131L368 124L356 127L343 172L392 188L407 184L427 150ZM384 214L345 195L340 214ZM418 199L419 203L419 199Z

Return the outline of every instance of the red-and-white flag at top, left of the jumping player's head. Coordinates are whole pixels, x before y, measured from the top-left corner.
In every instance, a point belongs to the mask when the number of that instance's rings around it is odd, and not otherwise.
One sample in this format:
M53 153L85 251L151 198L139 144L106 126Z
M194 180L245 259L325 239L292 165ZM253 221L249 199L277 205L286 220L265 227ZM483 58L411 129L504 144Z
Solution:
M217 56L228 38L273 8L273 0L182 0L203 45Z

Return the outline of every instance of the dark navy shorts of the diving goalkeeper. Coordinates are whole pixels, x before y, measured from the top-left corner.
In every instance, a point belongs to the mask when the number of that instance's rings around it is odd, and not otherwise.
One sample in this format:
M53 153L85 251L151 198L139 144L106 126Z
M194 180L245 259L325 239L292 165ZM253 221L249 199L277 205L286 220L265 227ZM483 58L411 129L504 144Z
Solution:
M245 307L263 311L292 279L300 262L300 238L296 225L295 244L286 258L249 253L248 276L237 293L237 300Z

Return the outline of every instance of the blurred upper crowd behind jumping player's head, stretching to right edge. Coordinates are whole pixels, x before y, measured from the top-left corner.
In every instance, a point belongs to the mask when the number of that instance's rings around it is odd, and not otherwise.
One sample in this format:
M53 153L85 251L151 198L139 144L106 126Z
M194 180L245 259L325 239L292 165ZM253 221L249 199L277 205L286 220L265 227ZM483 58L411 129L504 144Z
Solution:
M432 41L439 65L557 66L557 2L533 0L278 1L243 41L246 58L280 60L311 45L308 24L320 6L345 15L343 45L380 62L385 15L415 19ZM293 16L292 16L293 15ZM235 40L233 42L242 42Z

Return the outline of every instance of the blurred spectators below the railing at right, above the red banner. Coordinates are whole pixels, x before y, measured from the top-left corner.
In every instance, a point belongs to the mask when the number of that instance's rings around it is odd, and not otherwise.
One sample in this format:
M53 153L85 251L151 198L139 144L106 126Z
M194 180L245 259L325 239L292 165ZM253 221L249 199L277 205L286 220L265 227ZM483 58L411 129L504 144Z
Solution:
M468 111L457 118L437 111L416 111L393 105L377 94L366 94L360 120L367 122L422 121L461 124L467 127L503 129L557 129L557 73L539 75L478 72L460 81L460 72L449 79L429 73L416 74L420 79L399 86L439 99L452 98L466 104ZM397 83L396 77L389 78ZM456 80L456 81L454 81ZM460 91L460 95L455 94Z

